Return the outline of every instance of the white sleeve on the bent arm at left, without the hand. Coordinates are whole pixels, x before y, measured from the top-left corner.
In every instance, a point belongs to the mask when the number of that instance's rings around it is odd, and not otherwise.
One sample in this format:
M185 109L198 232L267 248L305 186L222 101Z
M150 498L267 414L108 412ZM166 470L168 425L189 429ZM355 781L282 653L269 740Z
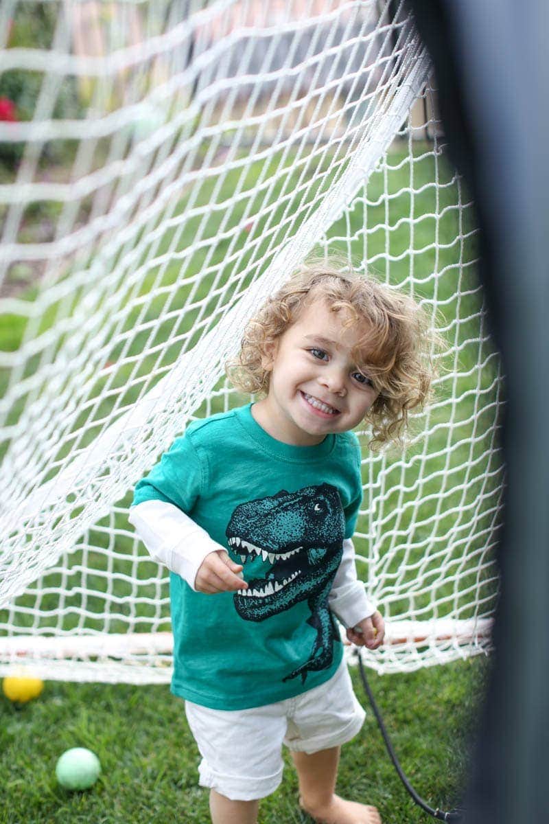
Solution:
M194 579L206 555L216 550L226 551L173 503L158 500L137 503L130 508L128 521L152 558L184 578L195 592Z

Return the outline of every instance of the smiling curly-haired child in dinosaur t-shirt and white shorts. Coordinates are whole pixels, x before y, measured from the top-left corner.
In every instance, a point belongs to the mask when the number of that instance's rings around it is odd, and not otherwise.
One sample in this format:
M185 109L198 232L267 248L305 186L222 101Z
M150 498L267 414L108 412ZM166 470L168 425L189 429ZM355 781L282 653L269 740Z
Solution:
M255 824L291 750L317 822L378 824L334 792L361 729L333 616L375 649L384 620L357 580L361 454L398 438L430 386L426 318L407 297L321 261L244 333L233 382L261 400L191 424L135 490L130 521L171 571L172 692L202 756L213 824ZM212 597L213 596L213 597Z

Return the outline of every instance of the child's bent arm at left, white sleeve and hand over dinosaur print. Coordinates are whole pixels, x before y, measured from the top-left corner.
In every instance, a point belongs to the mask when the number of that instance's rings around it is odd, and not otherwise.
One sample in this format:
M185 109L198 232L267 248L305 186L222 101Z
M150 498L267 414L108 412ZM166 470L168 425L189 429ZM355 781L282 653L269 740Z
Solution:
M247 586L238 577L242 567L229 558L225 547L173 503L137 503L130 508L128 521L150 555L184 578L195 592L226 592Z

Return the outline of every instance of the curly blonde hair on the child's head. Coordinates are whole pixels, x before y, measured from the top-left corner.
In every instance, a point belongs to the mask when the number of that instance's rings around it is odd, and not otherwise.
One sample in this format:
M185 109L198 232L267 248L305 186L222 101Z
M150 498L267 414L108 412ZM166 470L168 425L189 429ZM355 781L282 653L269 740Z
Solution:
M369 446L402 443L408 414L421 410L430 396L432 353L440 338L411 297L356 273L347 260L309 260L268 298L246 326L238 357L227 363L231 382L241 391L267 394L270 370L263 366L264 355L313 300L344 311L345 326L364 325L352 355L379 391L365 415L372 427Z

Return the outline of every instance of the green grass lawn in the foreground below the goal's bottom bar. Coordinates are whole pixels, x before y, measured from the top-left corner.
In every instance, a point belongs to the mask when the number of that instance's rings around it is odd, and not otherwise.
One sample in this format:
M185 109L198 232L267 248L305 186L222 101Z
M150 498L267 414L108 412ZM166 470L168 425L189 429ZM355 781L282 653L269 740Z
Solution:
M486 673L486 659L475 658L369 676L402 767L433 807L458 803ZM338 792L375 804L385 824L426 822L388 761L356 667L351 677L368 714L342 749ZM77 746L95 751L102 775L91 789L70 793L58 786L55 763ZM22 709L0 699L0 824L207 824L198 761L183 701L167 687L50 681ZM285 761L281 787L261 803L259 824L310 824L296 806L287 751Z

